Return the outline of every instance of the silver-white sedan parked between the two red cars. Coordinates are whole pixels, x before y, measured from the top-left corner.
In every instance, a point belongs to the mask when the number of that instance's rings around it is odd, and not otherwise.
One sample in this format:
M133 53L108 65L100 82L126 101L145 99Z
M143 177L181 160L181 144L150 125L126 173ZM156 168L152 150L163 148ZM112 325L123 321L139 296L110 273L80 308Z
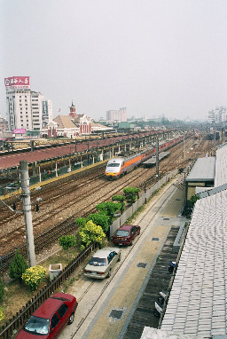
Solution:
M120 248L102 248L92 256L84 269L84 275L89 278L105 279L111 276L114 264L121 260Z

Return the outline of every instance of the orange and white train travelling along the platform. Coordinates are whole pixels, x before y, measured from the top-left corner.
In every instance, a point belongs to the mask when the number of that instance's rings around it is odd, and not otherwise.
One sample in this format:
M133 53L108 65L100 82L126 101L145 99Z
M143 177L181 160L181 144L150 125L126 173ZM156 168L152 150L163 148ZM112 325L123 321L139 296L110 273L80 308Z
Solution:
M183 141L183 136L163 141L159 145L159 152L164 152L181 141ZM122 177L129 173L129 171L135 169L142 162L153 157L155 154L156 148L152 147L150 149L144 149L138 154L114 157L107 162L105 175L107 179L117 179Z

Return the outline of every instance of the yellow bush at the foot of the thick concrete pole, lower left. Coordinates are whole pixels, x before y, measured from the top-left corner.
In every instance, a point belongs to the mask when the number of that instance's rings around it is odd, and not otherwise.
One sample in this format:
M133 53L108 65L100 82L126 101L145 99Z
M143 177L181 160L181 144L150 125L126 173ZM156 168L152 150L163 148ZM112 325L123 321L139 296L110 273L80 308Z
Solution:
M27 268L26 272L22 274L22 280L28 288L33 292L38 288L38 285L45 278L46 271L42 266L33 266Z

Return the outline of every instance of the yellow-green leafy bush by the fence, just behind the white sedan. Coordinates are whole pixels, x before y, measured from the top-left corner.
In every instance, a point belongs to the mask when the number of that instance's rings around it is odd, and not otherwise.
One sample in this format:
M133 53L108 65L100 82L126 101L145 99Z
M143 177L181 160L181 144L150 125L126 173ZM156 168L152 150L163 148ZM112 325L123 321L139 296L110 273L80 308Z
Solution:
M81 249L86 248L94 242L101 244L105 238L106 234L103 232L102 227L95 225L91 220L82 226L78 232L78 242Z

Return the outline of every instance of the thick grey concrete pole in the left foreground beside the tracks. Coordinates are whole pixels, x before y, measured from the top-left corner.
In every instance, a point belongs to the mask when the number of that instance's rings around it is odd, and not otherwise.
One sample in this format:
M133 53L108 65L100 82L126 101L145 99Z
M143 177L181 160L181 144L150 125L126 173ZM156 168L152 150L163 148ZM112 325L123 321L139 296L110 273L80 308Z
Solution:
M23 201L23 212L25 217L27 259L29 267L32 267L35 266L35 244L32 225L32 210L31 210L27 161L20 162L20 183L21 183L21 197Z

